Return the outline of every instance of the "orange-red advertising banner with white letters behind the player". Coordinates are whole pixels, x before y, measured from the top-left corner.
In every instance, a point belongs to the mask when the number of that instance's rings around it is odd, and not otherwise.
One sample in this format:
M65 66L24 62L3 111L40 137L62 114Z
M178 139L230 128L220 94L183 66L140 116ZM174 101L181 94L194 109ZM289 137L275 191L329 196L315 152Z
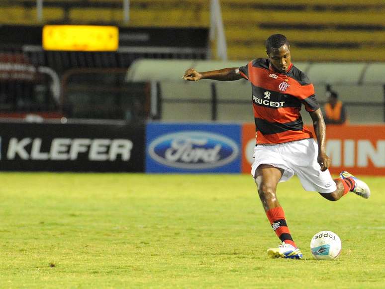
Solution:
M313 131L311 126L307 127ZM330 172L385 176L385 125L328 125L326 154ZM250 174L255 147L255 125L242 127L242 172Z

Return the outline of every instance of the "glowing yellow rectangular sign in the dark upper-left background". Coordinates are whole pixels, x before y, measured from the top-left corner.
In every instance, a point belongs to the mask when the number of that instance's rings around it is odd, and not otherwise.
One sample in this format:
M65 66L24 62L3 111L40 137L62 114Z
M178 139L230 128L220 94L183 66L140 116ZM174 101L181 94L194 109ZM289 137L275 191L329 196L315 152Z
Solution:
M64 51L116 51L119 30L116 26L45 25L43 48Z

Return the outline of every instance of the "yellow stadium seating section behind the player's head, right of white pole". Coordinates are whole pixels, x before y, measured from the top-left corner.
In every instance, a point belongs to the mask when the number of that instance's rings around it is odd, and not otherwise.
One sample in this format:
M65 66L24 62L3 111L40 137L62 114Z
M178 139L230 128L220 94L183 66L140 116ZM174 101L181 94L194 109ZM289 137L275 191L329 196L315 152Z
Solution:
M293 60L385 61L381 0L223 0L221 7L229 59L263 56L266 38L279 32Z

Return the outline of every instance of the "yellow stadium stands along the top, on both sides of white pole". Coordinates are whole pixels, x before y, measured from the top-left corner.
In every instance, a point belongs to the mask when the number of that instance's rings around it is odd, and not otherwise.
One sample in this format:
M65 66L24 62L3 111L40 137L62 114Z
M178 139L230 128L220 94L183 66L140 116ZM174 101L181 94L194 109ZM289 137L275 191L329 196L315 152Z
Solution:
M0 22L37 23L34 2L2 1ZM121 0L46 0L43 22L208 27L208 3L134 0L130 20L124 23ZM385 61L383 0L221 0L221 9L229 59L264 53L265 39L280 32L291 41L297 61Z

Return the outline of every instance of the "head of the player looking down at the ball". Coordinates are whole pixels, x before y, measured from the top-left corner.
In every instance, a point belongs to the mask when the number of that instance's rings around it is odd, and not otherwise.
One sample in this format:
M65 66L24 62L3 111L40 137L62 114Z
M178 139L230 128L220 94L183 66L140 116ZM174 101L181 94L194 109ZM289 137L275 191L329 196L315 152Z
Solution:
M266 40L266 53L272 66L279 72L287 72L291 64L290 44L282 34L273 34Z

